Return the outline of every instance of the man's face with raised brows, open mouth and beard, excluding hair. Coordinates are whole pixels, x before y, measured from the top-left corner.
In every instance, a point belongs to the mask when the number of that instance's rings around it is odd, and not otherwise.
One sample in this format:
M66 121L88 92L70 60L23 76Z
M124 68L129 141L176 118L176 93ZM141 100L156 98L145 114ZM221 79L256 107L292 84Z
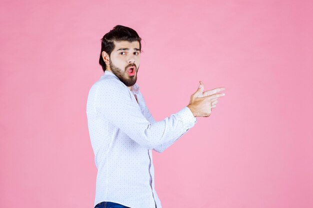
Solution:
M140 64L139 41L114 41L115 47L109 59L109 68L106 70L115 74L127 87L137 81L137 72Z

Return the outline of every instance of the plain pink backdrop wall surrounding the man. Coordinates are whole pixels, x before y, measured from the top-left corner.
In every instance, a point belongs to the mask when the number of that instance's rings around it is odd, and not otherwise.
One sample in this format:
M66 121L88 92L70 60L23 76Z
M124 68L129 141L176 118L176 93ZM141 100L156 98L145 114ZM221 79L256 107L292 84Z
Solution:
M226 96L162 154L163 208L312 208L309 0L0 3L0 207L91 208L86 99L100 38L142 37L137 83L156 120L202 80Z

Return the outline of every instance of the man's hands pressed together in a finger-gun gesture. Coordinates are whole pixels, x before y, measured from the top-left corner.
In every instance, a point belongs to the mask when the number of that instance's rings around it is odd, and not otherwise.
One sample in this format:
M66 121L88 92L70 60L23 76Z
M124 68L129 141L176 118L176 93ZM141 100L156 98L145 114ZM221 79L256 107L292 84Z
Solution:
M225 95L224 93L217 93L225 90L224 87L214 88L205 92L203 92L203 89L203 82L200 81L198 89L190 96L190 102L187 105L194 117L209 117L212 108L216 107L217 98Z

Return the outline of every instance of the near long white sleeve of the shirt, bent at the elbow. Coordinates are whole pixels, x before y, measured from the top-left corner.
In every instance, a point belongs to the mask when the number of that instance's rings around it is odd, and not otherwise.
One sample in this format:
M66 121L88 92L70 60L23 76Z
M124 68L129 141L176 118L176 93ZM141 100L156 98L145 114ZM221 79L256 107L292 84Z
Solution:
M102 114L130 139L147 149L170 142L194 125L194 117L187 107L162 121L148 121L132 93L117 79L97 82L90 94L95 112Z

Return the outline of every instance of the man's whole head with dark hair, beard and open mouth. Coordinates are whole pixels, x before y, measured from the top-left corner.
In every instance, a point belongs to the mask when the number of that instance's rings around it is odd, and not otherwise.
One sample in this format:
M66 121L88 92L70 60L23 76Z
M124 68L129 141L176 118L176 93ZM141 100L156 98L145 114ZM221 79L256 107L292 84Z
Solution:
M134 85L140 65L140 41L135 30L116 25L101 39L99 64L102 70L112 72L128 87Z

